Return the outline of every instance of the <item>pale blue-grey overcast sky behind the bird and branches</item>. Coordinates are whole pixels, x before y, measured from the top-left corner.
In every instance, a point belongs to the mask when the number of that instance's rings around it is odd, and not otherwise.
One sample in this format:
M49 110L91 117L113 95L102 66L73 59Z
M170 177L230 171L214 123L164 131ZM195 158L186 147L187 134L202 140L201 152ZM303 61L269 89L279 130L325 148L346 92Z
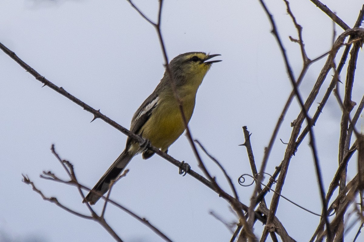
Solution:
M353 26L363 1L323 3ZM157 1L135 4L156 19ZM297 78L302 66L300 50L288 38L297 38L296 29L283 1L267 4ZM327 52L332 39L329 17L308 0L291 1L291 7L303 27L309 58ZM244 143L241 127L248 126L252 132L254 156L260 164L292 90L270 30L258 1L166 0L163 7L162 34L170 60L191 51L221 54L223 61L213 64L198 91L189 126L194 138L226 168L245 204L249 204L252 187L237 184L240 175L251 173L246 150L238 146ZM336 30L338 34L343 32L339 26ZM164 72L154 28L123 0L1 0L0 42L55 85L126 128ZM357 103L364 90L361 50L359 55L353 90ZM300 87L303 97L309 94L324 61L310 67ZM123 151L126 136L102 120L90 123L90 113L50 88L41 88L39 81L3 52L0 66L0 241L113 241L96 222L43 201L21 182L21 174L27 174L46 196L56 196L63 204L87 213L74 187L39 178L44 170L67 177L51 154L51 144L55 144L62 159L74 164L79 181L92 187ZM341 75L343 81L344 78L345 71ZM320 102L329 81L331 78L325 81L315 103ZM316 111L316 105L310 114ZM298 112L295 100L278 138L288 142L290 123ZM331 96L314 127L326 190L338 163L340 119L340 108ZM357 125L359 130L361 127L362 118ZM277 140L268 173L274 172L284 155L285 145ZM321 201L307 144L306 138L292 158L282 194L320 213ZM184 135L170 147L169 154L185 160L202 174ZM211 174L230 192L219 169L205 155L202 157ZM348 181L356 173L354 161L349 163ZM178 168L157 155L149 160L134 157L127 168L130 172L111 193L120 204L147 218L174 241L230 240L230 231L209 211L227 222L237 222L237 218L227 202L209 188L189 175L179 176ZM268 194L266 199L271 196ZM102 204L94 207L101 210ZM297 241L308 241L319 221L282 199L277 217ZM113 206L108 206L106 218L124 241L162 241L145 225ZM358 226L348 238L354 237ZM260 236L263 228L257 222L254 232ZM358 241L363 240L361 234Z

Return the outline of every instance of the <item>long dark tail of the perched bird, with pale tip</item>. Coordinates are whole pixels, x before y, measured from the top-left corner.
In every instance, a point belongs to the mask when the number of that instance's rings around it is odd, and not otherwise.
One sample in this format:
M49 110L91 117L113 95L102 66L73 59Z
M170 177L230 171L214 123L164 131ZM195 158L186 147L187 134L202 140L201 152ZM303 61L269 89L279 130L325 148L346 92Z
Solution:
M131 155L130 152L123 151L118 159L115 160L111 167L96 183L94 188L92 188L90 193L87 194L83 202L89 202L91 205L94 205L100 197L107 192L111 180L115 180L119 176L133 156L134 155Z

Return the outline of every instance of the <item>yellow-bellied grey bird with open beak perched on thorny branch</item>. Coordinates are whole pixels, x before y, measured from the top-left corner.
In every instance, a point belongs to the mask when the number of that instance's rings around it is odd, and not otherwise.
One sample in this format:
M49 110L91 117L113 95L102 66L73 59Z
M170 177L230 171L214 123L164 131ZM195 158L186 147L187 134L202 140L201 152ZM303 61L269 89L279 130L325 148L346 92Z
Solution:
M173 58L168 65L169 71L166 69L153 93L145 99L132 117L130 131L142 136L152 146L167 152L169 146L185 131L185 124L174 90L177 91L182 102L183 112L188 123L193 114L197 90L203 78L212 63L221 61L210 60L216 56L220 56L220 54L188 52ZM175 83L174 90L171 86L172 81ZM142 153L143 159L154 155L153 151L128 137L124 151L90 190L83 202L94 205L108 191L111 181L115 180L130 160L139 153Z

